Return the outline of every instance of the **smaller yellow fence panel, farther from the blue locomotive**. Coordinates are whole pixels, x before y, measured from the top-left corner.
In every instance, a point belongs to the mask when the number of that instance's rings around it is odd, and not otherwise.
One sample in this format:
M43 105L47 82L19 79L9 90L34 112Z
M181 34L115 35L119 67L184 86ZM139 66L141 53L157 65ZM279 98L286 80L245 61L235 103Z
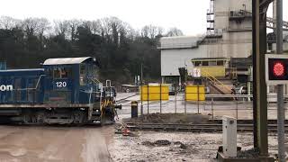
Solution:
M205 101L204 85L186 85L185 87L186 101Z

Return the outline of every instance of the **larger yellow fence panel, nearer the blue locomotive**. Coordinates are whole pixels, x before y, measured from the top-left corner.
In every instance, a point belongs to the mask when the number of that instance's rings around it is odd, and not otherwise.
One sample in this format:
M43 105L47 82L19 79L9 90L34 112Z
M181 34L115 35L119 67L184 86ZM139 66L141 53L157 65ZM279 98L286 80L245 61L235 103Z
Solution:
M167 101L169 100L169 86L143 85L140 86L139 94L142 101Z

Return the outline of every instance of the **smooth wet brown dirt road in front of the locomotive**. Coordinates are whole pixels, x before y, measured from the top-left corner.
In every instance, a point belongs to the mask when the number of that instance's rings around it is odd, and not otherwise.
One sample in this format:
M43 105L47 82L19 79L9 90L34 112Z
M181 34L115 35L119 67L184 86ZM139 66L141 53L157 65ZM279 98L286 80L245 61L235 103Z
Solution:
M0 161L110 162L113 127L0 126Z

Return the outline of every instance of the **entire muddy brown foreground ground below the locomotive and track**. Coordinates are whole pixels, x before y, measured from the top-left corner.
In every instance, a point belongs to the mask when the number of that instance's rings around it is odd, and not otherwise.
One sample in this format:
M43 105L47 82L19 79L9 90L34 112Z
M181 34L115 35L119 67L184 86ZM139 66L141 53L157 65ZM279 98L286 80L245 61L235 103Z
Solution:
M105 127L0 126L0 161L130 162L214 161L221 133L135 131L134 137ZM277 138L269 136L276 153ZM238 133L238 146L253 146L252 133Z

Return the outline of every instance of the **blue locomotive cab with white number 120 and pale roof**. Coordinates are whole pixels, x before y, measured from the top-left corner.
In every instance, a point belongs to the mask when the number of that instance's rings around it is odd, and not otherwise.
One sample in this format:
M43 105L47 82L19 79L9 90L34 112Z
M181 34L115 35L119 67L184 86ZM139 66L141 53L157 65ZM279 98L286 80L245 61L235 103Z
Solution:
M95 82L95 58L49 58L43 63L46 92L45 103L94 103L93 92L99 91Z

